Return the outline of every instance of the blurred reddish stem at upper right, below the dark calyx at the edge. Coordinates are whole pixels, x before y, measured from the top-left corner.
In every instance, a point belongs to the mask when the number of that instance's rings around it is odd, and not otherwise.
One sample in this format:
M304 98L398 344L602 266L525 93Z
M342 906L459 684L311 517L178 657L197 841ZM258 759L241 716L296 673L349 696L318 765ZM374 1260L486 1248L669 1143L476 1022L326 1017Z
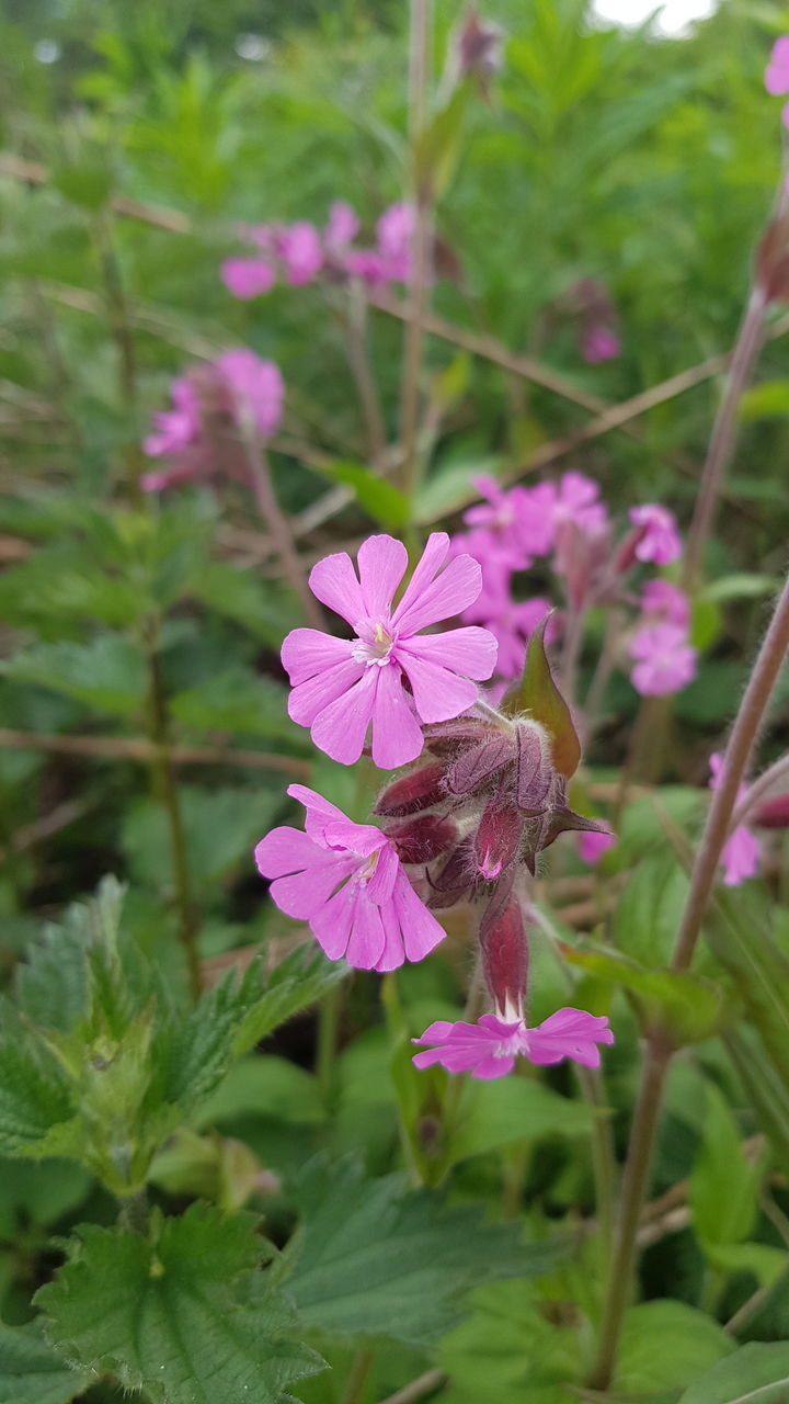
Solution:
M715 417L705 466L702 469L699 494L696 497L694 519L688 532L685 560L682 564L684 590L692 588L699 573L703 550L712 528L715 508L723 486L723 475L737 437L737 407L761 347L768 305L765 291L758 286L754 288L740 323L737 341L734 343L734 354L729 366L729 376L726 379L726 389Z

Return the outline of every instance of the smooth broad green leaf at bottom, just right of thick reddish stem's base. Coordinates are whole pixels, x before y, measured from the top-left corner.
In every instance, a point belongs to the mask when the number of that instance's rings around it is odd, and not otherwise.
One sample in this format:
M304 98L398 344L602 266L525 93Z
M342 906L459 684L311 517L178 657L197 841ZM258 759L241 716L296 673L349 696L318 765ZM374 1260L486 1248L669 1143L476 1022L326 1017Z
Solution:
M717 1321L684 1302L642 1302L625 1314L615 1389L646 1391L689 1384L734 1349Z

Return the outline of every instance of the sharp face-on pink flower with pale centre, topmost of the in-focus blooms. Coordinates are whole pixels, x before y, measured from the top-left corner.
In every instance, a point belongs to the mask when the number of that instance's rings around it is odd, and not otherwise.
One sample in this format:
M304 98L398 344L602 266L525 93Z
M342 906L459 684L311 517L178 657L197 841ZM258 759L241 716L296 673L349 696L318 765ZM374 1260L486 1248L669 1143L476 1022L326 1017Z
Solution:
M421 635L466 609L482 588L479 563L470 556L456 556L441 570L448 553L449 538L434 532L394 609L392 598L409 557L392 536L362 543L359 578L345 552L313 567L313 595L347 619L355 637L293 629L282 644L282 664L293 688L291 717L310 727L314 744L331 760L358 761L372 723L375 764L406 765L423 748L420 722L459 716L477 698L470 680L490 678L496 639L487 629Z

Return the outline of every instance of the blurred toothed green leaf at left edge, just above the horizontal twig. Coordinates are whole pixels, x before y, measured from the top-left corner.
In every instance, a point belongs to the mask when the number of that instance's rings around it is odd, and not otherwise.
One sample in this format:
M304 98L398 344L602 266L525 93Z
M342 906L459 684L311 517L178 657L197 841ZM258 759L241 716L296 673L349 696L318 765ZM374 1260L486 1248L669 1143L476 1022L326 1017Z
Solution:
M42 643L17 653L3 664L3 673L118 716L139 712L147 688L142 654L115 633L98 635L91 643Z

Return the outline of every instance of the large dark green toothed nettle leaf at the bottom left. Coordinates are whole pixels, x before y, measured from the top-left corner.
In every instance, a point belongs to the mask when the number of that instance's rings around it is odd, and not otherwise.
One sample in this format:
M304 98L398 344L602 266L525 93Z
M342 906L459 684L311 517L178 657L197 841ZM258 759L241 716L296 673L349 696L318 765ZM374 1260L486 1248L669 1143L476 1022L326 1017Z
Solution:
M286 1338L278 1293L250 1290L268 1255L253 1214L204 1205L160 1220L153 1240L86 1224L35 1302L69 1359L156 1404L275 1404L323 1362Z

